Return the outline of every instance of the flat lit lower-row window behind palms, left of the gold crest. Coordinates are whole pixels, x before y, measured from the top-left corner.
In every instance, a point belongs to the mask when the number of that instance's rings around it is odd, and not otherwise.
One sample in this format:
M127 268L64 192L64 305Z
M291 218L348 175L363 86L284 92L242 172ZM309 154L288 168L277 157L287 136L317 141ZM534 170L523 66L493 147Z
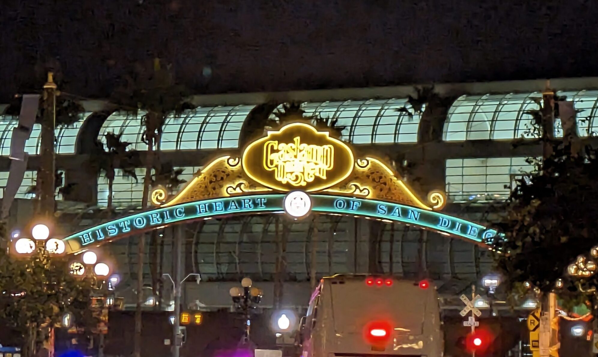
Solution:
M178 189L191 181L194 173L202 169L202 167L185 166L175 167L175 169L183 169L183 172L179 175L179 179L185 180L185 183L178 187L177 190L173 190L173 193L176 193ZM137 182L132 177L123 176L122 170L117 169L115 171L114 184L112 185L112 205L115 207L141 206L144 193L145 168L139 167L135 169L135 174L137 175ZM108 179L103 175L100 175L98 178L97 205L100 207L108 205Z

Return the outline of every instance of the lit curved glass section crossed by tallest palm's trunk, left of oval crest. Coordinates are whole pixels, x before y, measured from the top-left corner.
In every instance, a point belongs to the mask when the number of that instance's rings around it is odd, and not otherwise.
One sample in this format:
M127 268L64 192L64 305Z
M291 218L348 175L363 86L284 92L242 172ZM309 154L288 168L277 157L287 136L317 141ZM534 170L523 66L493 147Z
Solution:
M222 149L239 147L243 121L254 105L199 107L166 118L161 150ZM147 150L142 141L145 112L114 112L102 125L99 139L108 132L123 134L130 148Z

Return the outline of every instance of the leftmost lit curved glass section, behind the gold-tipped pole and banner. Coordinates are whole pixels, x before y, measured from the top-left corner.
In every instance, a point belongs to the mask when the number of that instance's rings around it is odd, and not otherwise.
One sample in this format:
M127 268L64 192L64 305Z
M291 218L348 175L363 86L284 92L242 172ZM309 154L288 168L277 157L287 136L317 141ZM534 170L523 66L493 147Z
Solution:
M58 127L54 130L56 135L56 153L74 154L77 134L83 121L90 115L90 112L81 113L80 118L72 126ZM0 155L10 155L10 142L13 136L13 129L19 124L19 117L13 115L0 115ZM29 155L39 155L41 144L41 124L33 124L31 135L25 142L25 151Z

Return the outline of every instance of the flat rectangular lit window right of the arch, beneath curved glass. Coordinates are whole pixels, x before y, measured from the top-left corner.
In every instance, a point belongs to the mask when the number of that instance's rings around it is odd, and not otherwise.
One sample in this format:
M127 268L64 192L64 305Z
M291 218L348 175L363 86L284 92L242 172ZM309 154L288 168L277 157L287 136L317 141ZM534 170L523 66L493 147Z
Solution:
M446 161L446 193L453 202L505 200L515 179L533 172L526 157L451 158Z

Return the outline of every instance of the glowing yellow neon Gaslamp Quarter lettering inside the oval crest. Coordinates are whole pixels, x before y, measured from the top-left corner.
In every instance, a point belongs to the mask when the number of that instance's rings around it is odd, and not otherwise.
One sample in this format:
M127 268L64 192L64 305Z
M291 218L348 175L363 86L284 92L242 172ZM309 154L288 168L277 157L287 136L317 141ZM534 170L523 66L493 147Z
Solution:
M326 179L326 173L334 167L332 145L309 145L301 143L299 136L292 143L277 140L264 143L264 168L274 171L274 179L282 184L305 186L316 177Z

